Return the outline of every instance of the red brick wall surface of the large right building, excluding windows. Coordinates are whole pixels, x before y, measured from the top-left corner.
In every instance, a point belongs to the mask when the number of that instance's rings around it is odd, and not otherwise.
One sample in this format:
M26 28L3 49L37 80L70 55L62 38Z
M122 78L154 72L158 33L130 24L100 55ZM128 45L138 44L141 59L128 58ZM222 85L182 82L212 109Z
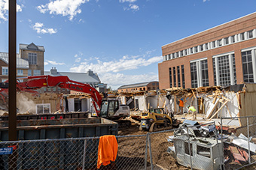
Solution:
M194 46L199 46L204 43L209 43L214 40L219 40L224 37L229 37L234 34L239 34L244 31L250 31L256 28L256 13L252 13L249 16L236 19L232 22L227 22L223 25L219 25L215 28L194 34L190 37L186 37L182 40L175 41L174 43L169 43L166 46L162 46L163 55L169 55L174 52L179 52L184 49L189 49ZM198 52L192 55L187 55L180 58L170 59L168 61L163 61L158 64L158 73L159 73L159 83L160 89L169 88L169 67L176 67L176 76L177 76L177 66L184 65L184 76L185 76L185 88L191 88L191 79L190 79L190 61L207 58L208 62L208 72L209 72L209 85L214 85L213 77L213 67L212 67L212 56L219 55L226 52L234 52L236 60L236 79L237 84L243 82L242 75L242 58L241 58L241 49L245 49L251 46L256 46L256 38L251 40L244 40L239 43L233 43L230 45L225 45L217 47L215 49L209 49L204 52ZM181 76L181 69L180 69ZM173 73L172 73L173 79ZM181 77L182 79L182 77ZM176 85L178 85L178 79L176 80ZM173 85L173 80L172 80ZM182 83L181 83L182 86Z

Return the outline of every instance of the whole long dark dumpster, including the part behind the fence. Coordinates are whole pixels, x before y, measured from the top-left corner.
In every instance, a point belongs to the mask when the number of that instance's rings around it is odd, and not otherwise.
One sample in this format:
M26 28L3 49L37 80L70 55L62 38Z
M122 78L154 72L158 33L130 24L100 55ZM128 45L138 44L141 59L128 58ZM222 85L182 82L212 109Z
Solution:
M5 142L8 121L0 121L0 149L15 145L12 154L0 155L0 169L11 169L9 156L17 169L92 169L99 138L82 137L117 135L117 126L105 118L17 121L17 139L24 141Z

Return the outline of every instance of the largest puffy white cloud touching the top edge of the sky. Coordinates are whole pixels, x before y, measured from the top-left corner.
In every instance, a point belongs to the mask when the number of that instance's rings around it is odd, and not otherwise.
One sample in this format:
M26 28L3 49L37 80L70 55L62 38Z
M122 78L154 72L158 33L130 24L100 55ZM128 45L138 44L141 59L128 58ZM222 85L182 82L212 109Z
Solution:
M81 4L90 0L54 0L48 4L41 4L37 9L41 13L49 11L50 14L69 16L69 20L72 20L74 16L81 13L79 8Z

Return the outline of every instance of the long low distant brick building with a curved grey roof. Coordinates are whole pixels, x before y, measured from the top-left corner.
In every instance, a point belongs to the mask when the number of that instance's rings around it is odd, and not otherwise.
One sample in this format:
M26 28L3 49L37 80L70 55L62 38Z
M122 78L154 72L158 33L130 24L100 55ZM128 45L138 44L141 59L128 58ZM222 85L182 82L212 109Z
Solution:
M141 82L132 85L122 85L117 91L120 92L133 92L133 91L151 91L159 89L159 83L156 82Z

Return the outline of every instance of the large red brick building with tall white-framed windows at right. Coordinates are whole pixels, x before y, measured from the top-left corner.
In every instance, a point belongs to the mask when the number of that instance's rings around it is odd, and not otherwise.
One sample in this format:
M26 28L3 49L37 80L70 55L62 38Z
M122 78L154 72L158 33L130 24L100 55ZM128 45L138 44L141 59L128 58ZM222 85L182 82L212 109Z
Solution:
M162 46L160 89L256 82L256 13Z

